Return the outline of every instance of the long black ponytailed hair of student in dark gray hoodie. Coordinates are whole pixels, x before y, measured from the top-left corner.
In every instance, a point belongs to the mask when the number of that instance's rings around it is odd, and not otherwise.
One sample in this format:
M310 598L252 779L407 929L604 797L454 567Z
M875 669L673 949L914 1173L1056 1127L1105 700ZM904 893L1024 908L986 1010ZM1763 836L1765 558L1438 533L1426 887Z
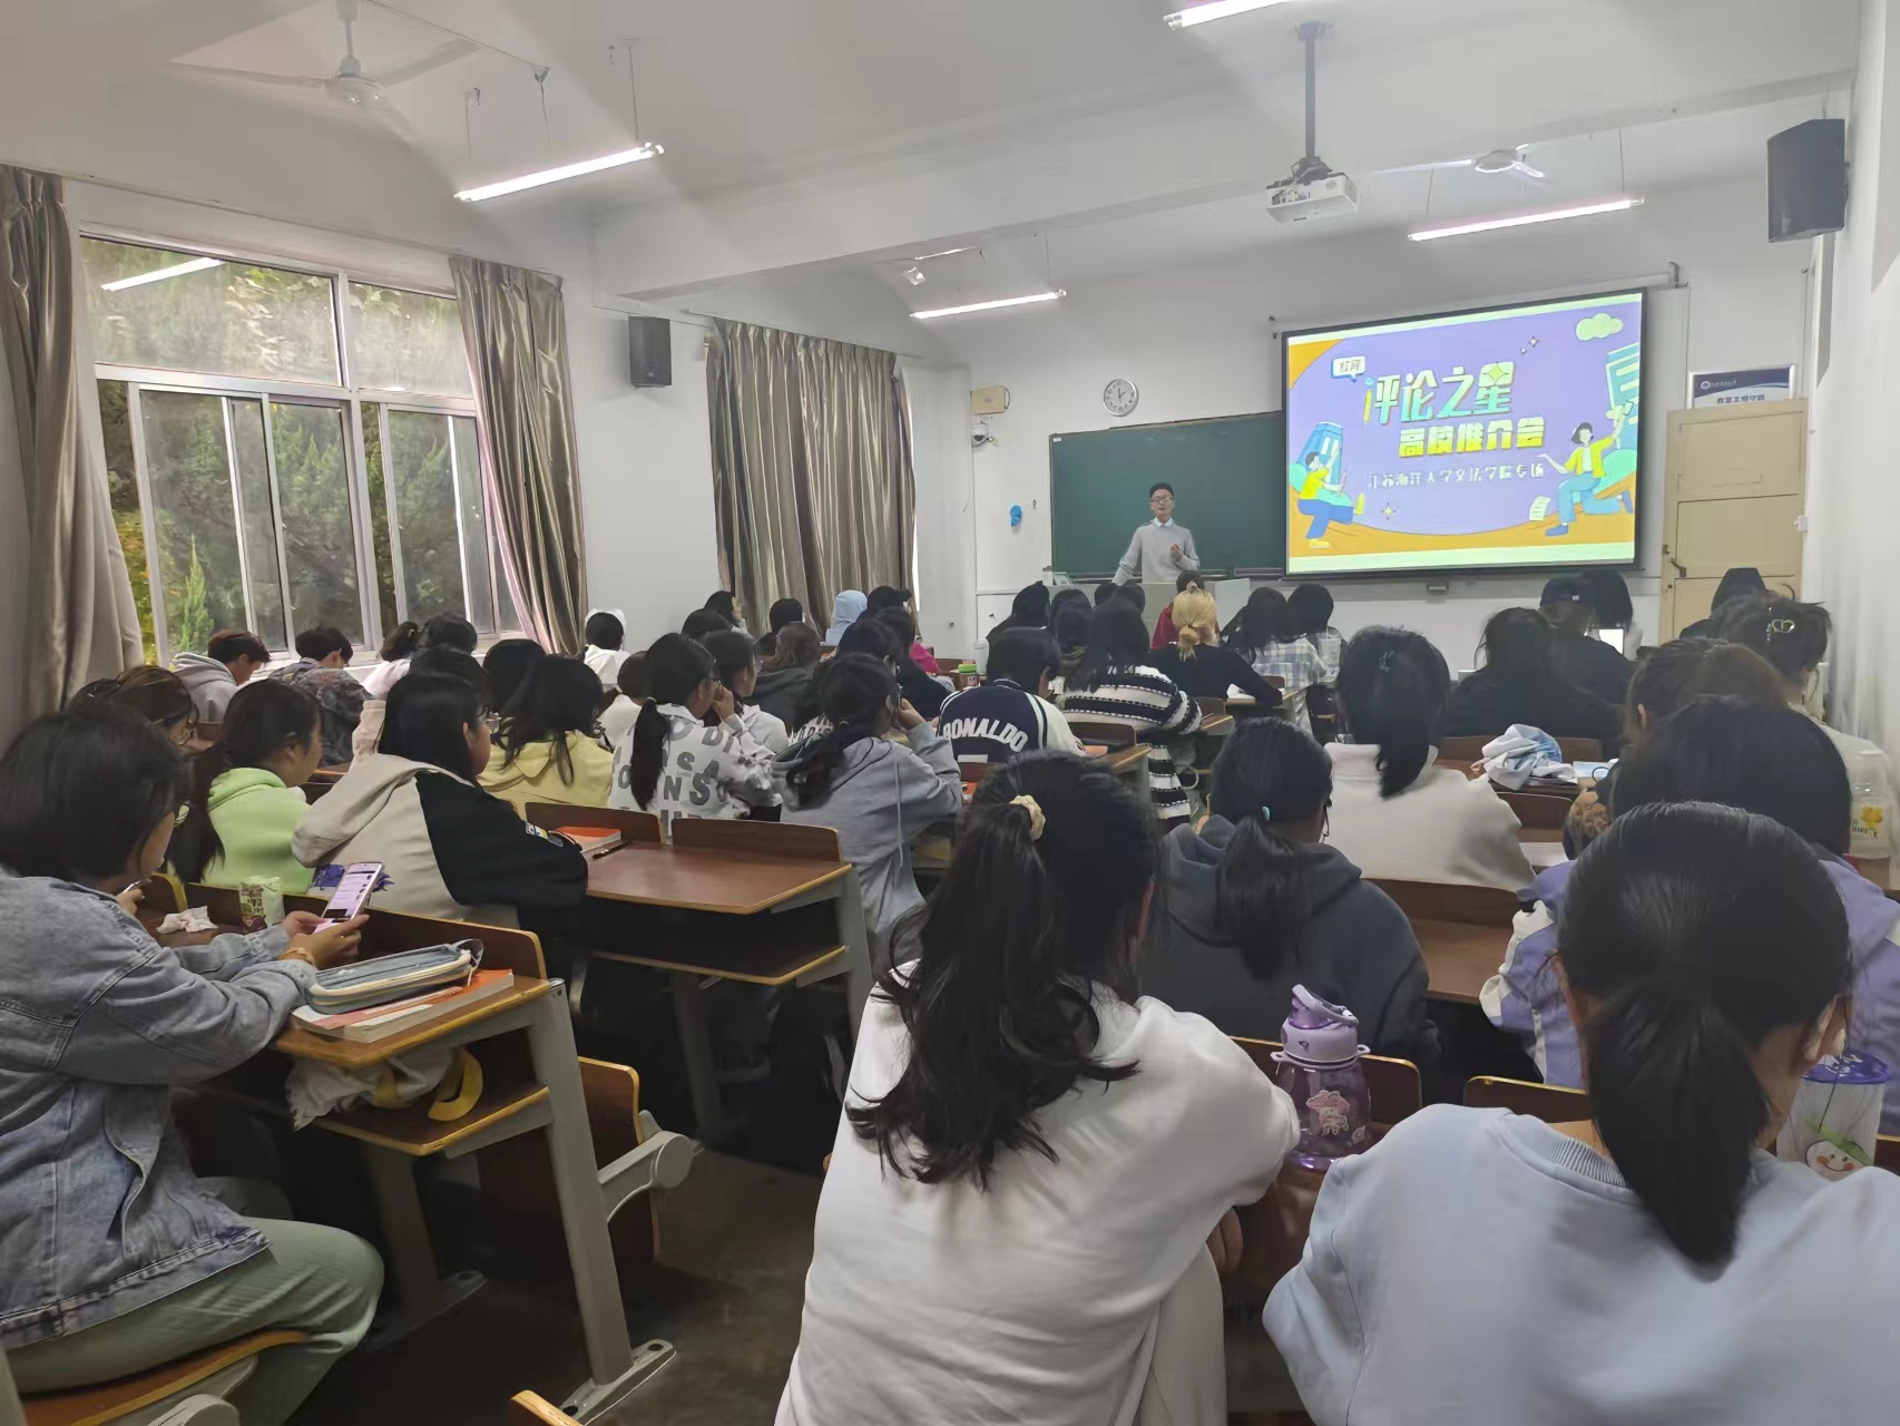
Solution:
M1288 829L1317 821L1330 800L1324 749L1281 719L1243 723L1214 762L1208 812L1233 823L1214 878L1220 924L1260 979L1279 973L1313 909Z

